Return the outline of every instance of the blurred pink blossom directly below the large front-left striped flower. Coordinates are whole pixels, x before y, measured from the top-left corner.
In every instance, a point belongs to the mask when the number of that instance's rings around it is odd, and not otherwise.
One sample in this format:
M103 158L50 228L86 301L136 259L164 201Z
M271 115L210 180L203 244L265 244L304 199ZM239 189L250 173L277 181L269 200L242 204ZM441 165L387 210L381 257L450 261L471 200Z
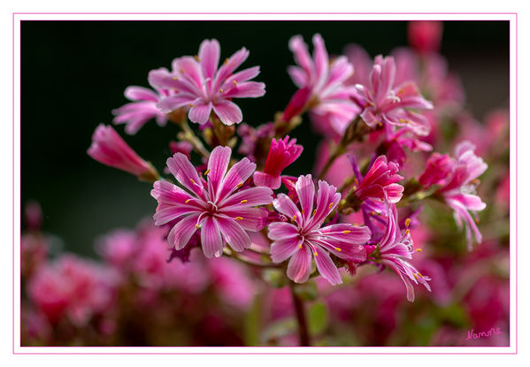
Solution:
M256 285L244 266L232 259L219 258L208 262L213 287L227 304L246 309L254 299Z

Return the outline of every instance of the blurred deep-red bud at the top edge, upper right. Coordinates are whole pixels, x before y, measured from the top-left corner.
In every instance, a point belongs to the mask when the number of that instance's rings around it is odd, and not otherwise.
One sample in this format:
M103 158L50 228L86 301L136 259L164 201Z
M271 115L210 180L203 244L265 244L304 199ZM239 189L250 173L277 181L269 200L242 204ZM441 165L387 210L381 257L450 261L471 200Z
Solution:
M415 20L409 22L409 43L419 53L436 52L442 42L442 22Z

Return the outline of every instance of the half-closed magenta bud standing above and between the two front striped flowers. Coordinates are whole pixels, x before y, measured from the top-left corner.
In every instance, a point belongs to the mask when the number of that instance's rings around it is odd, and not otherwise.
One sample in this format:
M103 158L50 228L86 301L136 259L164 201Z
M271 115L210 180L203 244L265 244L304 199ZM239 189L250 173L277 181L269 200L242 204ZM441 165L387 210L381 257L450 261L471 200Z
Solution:
M271 148L269 155L265 162L265 169L263 172L254 172L254 183L256 186L271 187L273 190L280 187L281 177L280 173L289 164L296 161L302 154L303 147L296 144L296 139L291 139L286 136L283 139L273 138L271 141Z

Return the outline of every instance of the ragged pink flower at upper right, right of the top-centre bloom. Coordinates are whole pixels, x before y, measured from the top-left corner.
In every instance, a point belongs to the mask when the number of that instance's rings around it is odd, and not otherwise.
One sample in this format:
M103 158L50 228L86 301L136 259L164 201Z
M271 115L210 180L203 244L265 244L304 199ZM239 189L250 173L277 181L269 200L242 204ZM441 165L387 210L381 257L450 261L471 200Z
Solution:
M409 126L416 134L428 134L427 119L412 110L430 110L433 104L419 95L412 82L395 86L395 78L394 57L375 57L370 85L356 85L361 117L368 126L384 125L388 131L394 126Z

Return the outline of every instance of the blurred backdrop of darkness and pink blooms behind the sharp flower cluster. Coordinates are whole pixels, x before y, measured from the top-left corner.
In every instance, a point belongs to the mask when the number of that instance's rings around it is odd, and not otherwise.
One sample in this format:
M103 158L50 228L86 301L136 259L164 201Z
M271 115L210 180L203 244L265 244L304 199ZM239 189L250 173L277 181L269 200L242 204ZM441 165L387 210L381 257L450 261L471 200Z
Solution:
M150 184L88 157L91 135L128 102L127 86L148 87L150 70L195 55L205 38L219 40L221 59L244 46L250 57L242 67L261 66L256 80L265 82L265 96L237 101L243 121L257 126L272 121L296 91L286 72L294 64L292 35L311 42L322 34L331 55L357 43L374 57L408 47L408 27L402 21L23 21L22 344L297 345L283 273L226 257L206 262L196 249L190 263L167 265L164 230L149 219L156 208ZM298 290L307 301L313 345L509 343L509 23L446 21L442 27L439 52L449 73L436 81L458 91L459 83L451 84L457 75L465 103L436 116L434 150L452 154L456 142L470 139L488 163L478 193L488 203L480 212L484 240L469 252L451 210L426 202L422 226L412 231L423 248L413 264L432 279L432 293L416 287L416 301L407 302L403 281L375 266L359 267L338 287L311 280ZM424 94L427 84L419 81ZM303 116L290 134L304 150L285 173L313 171L322 137L310 126ZM149 122L135 135L115 128L163 171L177 126ZM421 171L428 154L410 157L412 171ZM488 337L466 340L492 328Z

